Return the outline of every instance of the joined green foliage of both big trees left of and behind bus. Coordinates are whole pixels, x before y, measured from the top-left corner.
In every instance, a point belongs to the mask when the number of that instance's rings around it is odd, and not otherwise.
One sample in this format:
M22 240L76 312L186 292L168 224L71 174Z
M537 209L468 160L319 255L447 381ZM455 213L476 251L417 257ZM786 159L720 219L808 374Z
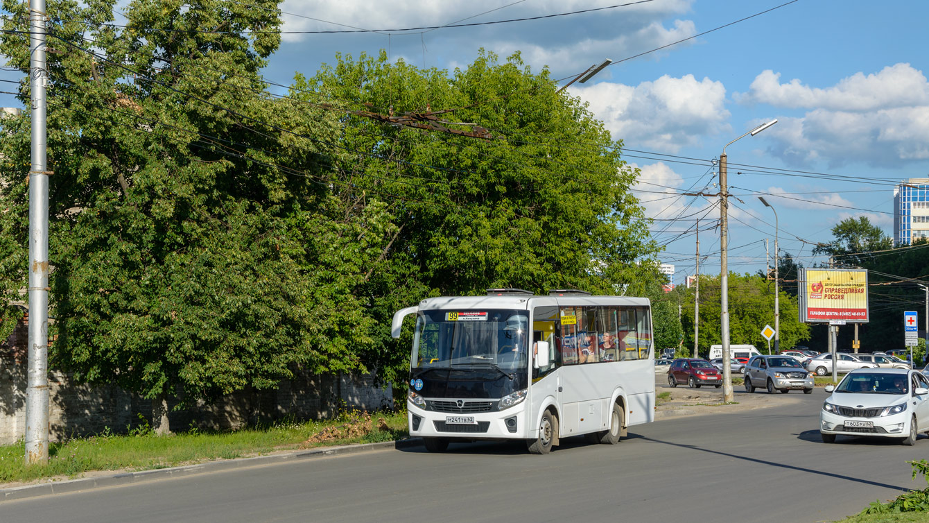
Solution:
M518 54L451 74L338 57L279 98L259 75L276 3L132 0L119 24L114 6L47 6L51 358L78 380L183 405L297 367L395 379L399 307L496 286L614 294L654 272L634 263L656 246L621 142ZM4 7L0 51L27 72L26 6ZM493 138L360 113L430 108ZM5 120L0 144L10 299L26 281L29 124Z

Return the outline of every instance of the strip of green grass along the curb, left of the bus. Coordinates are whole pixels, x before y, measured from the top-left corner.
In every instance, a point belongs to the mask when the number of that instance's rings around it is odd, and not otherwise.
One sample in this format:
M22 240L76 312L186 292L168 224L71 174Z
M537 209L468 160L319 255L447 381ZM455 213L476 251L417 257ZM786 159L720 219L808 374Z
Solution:
M278 423L224 432L191 429L161 437L147 426L133 429L129 435L114 435L108 429L98 436L50 444L46 465L25 466L21 442L0 446L0 487L51 477L79 477L89 471L150 470L272 451L391 441L407 435L405 412L373 416L347 412L321 422Z

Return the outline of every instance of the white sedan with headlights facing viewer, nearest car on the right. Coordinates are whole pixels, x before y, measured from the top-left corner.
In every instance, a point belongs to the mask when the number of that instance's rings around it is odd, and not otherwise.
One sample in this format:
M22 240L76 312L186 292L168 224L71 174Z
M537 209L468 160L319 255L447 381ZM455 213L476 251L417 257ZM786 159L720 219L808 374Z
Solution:
M845 375L819 411L819 435L898 438L913 445L929 430L929 379L907 369L856 369Z

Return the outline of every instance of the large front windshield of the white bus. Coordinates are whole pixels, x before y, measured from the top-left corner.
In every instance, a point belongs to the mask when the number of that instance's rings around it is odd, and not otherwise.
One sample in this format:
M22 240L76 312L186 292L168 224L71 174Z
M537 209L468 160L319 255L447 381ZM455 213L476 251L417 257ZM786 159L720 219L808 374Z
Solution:
M416 317L410 366L526 368L529 313L525 310L425 310Z

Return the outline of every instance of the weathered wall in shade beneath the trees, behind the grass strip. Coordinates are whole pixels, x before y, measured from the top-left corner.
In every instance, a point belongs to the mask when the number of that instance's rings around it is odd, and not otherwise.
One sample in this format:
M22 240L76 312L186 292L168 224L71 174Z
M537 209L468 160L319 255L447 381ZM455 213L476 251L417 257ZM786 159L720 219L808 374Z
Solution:
M20 322L6 342L0 343L0 444L23 438L25 431L26 366L28 363L28 318ZM139 425L138 414L151 415L149 399L142 399L115 386L73 383L67 373L48 375L49 438L52 441L98 434L109 427L124 433ZM373 411L391 407L390 387L373 385L373 376L319 376L296 372L269 390L242 390L214 403L169 413L171 428L240 428L280 419L324 419L340 405ZM170 404L174 407L174 404Z

